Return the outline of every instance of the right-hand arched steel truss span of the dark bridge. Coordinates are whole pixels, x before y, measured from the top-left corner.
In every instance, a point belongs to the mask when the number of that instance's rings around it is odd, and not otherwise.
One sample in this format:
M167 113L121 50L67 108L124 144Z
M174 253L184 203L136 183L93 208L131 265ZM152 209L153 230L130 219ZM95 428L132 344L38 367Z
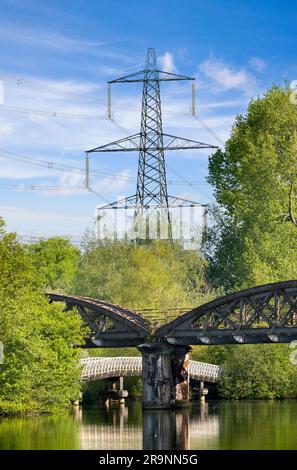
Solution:
M179 345L291 342L297 339L297 281L218 298L162 326L157 337Z

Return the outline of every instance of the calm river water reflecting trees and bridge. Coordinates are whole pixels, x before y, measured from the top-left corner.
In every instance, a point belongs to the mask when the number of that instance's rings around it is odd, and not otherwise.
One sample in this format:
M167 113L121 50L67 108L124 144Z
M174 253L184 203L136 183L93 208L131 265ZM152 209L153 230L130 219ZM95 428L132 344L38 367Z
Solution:
M296 423L297 401L213 401L177 412L97 406L1 418L0 449L297 449Z

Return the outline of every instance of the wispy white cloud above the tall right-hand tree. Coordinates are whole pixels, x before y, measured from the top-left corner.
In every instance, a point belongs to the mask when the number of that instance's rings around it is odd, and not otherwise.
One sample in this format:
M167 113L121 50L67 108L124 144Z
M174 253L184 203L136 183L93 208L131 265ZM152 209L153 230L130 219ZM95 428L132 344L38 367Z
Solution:
M235 89L250 94L256 86L251 74L243 69L236 70L215 57L202 62L199 70L216 85L217 91Z

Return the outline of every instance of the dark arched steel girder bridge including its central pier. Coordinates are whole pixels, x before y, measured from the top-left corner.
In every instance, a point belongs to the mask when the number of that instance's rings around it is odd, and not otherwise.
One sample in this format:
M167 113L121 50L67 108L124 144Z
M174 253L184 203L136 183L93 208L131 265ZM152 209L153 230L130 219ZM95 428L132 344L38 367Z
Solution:
M137 346L143 404L168 408L189 398L191 345L290 343L297 340L297 280L220 297L154 328L132 310L88 297L48 294L76 308L90 327L86 347Z

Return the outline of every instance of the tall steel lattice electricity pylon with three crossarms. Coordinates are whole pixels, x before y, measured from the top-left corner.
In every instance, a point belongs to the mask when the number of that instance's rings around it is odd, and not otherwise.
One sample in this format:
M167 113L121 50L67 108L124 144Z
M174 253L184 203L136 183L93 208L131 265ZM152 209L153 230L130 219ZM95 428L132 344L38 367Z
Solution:
M172 236L170 208L192 206L197 203L168 196L165 150L217 148L203 142L163 132L160 82L179 80L195 79L158 70L155 51L152 48L148 49L144 70L108 82L109 117L111 117L110 85L114 83L143 83L140 132L86 152L87 157L96 152L139 152L136 194L122 201L108 204L101 209L117 209L123 206L134 208L134 227L143 221L146 226L150 213L157 210L159 220L161 218L163 222L167 221L169 238ZM147 228L145 231L147 232ZM158 234L160 235L160 229L158 229Z

